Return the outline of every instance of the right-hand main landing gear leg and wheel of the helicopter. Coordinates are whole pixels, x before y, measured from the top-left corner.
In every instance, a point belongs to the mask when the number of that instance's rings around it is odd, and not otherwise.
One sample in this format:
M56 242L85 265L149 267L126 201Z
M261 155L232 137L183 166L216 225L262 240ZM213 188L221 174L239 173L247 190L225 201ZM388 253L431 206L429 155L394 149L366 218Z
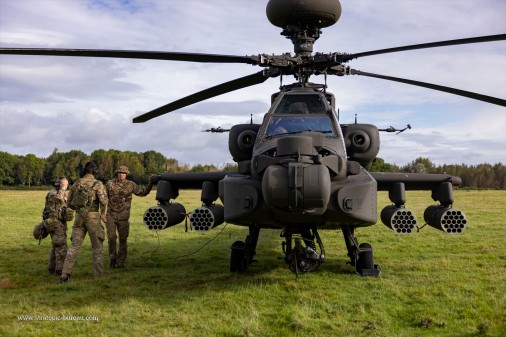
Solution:
M381 268L379 265L374 264L374 256L372 247L369 243L358 244L355 237L355 227L342 226L344 242L348 249L348 256L350 263L355 267L355 272L360 276L379 276Z

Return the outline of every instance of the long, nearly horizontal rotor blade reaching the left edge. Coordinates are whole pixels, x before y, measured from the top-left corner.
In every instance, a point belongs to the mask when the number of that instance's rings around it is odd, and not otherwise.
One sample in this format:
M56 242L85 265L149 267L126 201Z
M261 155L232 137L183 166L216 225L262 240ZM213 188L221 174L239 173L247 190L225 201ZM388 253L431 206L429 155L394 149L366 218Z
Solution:
M107 49L58 49L58 48L0 48L6 55L42 55L72 57L110 57L126 59L169 60L203 63L247 63L257 64L259 56L235 56L218 54L179 53L144 50Z

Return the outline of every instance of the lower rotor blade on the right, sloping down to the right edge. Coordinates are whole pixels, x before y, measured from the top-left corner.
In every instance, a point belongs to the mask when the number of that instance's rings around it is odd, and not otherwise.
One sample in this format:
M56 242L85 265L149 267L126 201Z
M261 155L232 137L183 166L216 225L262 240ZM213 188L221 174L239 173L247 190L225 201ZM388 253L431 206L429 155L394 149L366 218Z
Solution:
M447 92L447 93L454 94L454 95L459 95L459 96L464 96L464 97L476 99L478 101L483 101L483 102L487 102L487 103L492 103L492 104L497 104L497 105L501 105L501 106L506 106L506 100L501 99L501 98L487 96L487 95L482 95L482 94L478 94L478 93L471 92L471 91L465 91L465 90L460 90L460 89L445 87L445 86L442 86L442 85L437 85L437 84L432 84L432 83L426 83L426 82L420 82L420 81L414 81L414 80L408 80L408 79L399 78L399 77L391 77L391 76L385 76L385 75L367 73L367 72L360 71L360 70L355 70L355 69L350 69L350 74L352 74L352 75L369 76L369 77L381 78L383 80L388 80L388 81L395 81L395 82L400 82L400 83L411 84L411 85L415 85L415 86L418 86L418 87L429 88L429 89L433 89L433 90Z

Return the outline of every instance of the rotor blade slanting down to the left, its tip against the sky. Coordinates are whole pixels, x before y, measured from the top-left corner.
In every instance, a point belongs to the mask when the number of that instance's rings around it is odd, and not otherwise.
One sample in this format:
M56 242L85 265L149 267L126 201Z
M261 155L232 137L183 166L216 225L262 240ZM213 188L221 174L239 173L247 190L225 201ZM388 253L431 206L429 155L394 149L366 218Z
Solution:
M255 74L251 74L229 82L225 82L217 86L199 91L190 96L183 97L181 99L178 99L177 101L156 108L150 112L146 112L145 114L135 117L133 119L133 122L144 123L152 118L164 115L177 109L184 108L185 106L192 105L194 103L206 100L208 98L219 96L221 94L225 94L227 92L235 91L238 89L246 88L255 84L263 83L269 77L274 77L277 76L278 74L279 73L277 72L270 73L268 69L266 69L263 71L259 71L258 73Z

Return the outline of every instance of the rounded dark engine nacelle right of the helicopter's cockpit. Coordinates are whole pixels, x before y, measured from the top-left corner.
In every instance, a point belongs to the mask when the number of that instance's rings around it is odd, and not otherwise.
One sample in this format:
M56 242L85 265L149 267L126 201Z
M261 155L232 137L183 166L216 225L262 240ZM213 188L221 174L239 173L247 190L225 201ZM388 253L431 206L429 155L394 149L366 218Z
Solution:
M379 152L379 131L372 124L341 124L348 159L370 169Z

